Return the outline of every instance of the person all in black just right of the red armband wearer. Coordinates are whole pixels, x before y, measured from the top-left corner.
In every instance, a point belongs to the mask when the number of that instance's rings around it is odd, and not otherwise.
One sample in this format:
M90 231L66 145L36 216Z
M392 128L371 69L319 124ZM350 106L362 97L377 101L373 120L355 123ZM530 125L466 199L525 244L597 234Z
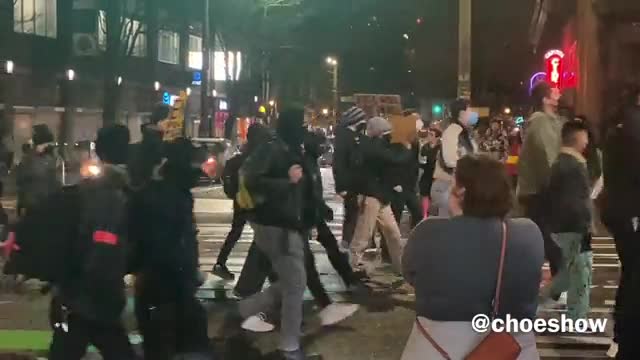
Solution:
M211 359L207 315L195 297L198 244L191 194L205 156L187 139L165 150L160 178L149 181L131 204L136 319L146 359Z

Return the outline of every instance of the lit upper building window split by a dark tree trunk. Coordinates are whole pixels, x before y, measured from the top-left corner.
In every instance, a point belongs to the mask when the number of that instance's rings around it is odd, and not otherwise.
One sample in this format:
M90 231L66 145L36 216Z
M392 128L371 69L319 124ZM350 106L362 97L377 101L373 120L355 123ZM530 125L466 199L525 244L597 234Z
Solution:
M146 56L147 34L143 23L138 20L124 18L120 38L121 44L127 44L127 47L123 49L127 55ZM107 49L107 17L103 10L98 12L98 45L102 51Z

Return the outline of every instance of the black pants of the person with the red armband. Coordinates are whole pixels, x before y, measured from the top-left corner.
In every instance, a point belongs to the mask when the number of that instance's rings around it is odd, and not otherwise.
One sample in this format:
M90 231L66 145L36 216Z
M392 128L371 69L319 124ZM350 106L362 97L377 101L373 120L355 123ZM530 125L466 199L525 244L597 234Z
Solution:
M51 300L49 321L53 340L49 348L50 360L80 360L87 346L95 346L104 360L133 360L135 354L129 344L124 326L116 319L113 323L88 320L69 312L57 298ZM65 331L63 324L66 324Z

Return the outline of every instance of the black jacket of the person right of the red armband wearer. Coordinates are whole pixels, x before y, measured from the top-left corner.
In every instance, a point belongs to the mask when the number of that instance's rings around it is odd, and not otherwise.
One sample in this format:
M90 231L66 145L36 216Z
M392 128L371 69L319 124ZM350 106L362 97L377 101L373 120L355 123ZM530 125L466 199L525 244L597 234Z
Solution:
M167 180L151 181L133 196L129 231L132 268L145 296L171 302L177 294L195 293L198 245L190 191Z

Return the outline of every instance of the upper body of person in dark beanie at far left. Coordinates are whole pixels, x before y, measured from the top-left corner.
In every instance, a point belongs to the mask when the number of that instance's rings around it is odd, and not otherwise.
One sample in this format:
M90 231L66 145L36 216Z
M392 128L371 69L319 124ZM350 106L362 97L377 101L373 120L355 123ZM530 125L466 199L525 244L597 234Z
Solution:
M62 188L58 174L53 133L47 125L33 127L32 151L26 154L16 170L18 207L23 210L37 207L49 195Z

